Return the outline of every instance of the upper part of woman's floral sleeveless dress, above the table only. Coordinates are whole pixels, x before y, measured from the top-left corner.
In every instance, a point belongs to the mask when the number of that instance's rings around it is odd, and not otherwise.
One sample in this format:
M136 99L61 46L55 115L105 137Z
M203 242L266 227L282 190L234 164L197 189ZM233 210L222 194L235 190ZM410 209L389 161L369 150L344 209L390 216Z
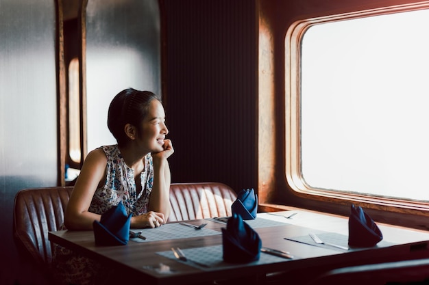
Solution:
M103 214L120 201L133 216L147 213L149 198L154 185L154 165L151 154L145 159L145 169L140 174L140 193L136 191L134 170L126 165L117 144L100 147L107 157L106 182L97 189L90 204L89 211Z

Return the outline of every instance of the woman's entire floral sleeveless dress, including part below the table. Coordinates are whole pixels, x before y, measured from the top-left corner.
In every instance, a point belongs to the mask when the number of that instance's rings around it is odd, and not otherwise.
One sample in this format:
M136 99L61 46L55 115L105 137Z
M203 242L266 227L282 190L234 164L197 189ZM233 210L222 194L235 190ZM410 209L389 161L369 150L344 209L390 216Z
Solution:
M137 194L134 171L123 160L117 145L100 147L107 157L106 182L97 189L90 204L89 211L102 215L120 201L127 209L128 215L134 216L147 213L149 197L154 184L154 164L151 154L145 159L145 169L140 174L142 191ZM64 223L61 230L66 230ZM109 284L110 277L116 275L110 267L103 267L86 256L82 256L71 249L54 245L53 267L58 282L66 284Z

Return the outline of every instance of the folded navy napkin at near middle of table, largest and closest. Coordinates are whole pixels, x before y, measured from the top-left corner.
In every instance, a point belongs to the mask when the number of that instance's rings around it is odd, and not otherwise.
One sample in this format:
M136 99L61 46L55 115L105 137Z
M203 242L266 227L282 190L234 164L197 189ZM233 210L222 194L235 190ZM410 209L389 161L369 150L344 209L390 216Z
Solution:
M230 263L247 263L259 260L262 241L257 232L232 214L226 228L222 228L223 260Z

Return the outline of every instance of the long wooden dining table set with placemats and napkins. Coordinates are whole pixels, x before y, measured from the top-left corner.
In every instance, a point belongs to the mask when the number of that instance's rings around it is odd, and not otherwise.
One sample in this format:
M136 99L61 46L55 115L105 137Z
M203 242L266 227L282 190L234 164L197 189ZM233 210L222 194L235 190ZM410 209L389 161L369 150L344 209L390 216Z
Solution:
M284 217L291 213L297 215L291 219ZM202 230L193 230L178 223L145 229L145 241L132 239L127 245L97 246L93 231L49 232L49 240L103 264L119 268L127 272L125 275L130 276L130 280L144 280L144 284L156 285L202 284L249 276L254 276L252 280L255 281L254 284L258 284L265 276L278 272L286 272L291 279L304 280L309 276L303 276L302 270L316 274L317 269L429 256L427 232L378 223L384 239L376 247L345 251L316 245L308 238L308 233L315 232L324 239L334 237L335 242L347 245L347 217L305 210L272 214L258 213L255 220L246 222L258 232L263 247L288 251L294 256L293 259L261 252L261 258L257 262L227 264L221 257L221 228L225 227L225 223L211 218L186 221L195 225L208 223ZM169 236L169 232L173 232L173 236ZM192 234L187 235L189 233ZM176 260L171 247L180 247L186 256L206 262L209 268Z

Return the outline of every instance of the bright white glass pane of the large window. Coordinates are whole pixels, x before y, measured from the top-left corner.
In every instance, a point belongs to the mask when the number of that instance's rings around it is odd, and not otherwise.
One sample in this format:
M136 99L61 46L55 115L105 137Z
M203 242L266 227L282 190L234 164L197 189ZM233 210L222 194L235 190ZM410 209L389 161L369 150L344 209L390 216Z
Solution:
M429 10L310 27L302 176L310 187L429 201Z

